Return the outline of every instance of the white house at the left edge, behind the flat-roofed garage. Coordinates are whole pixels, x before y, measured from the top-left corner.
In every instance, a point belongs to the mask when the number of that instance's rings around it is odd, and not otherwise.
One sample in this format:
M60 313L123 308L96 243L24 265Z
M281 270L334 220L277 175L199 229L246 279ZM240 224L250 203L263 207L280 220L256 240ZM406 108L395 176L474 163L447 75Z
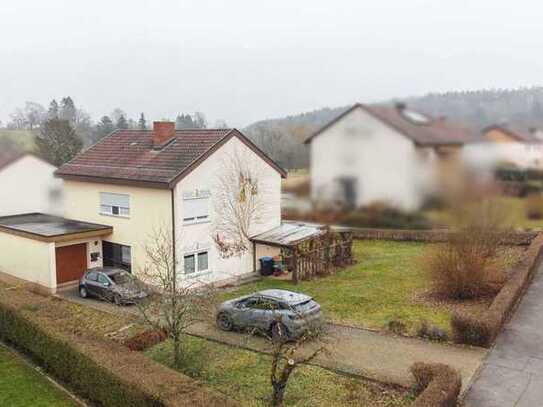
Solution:
M62 214L62 180L55 178L56 169L30 153L0 152L0 216Z

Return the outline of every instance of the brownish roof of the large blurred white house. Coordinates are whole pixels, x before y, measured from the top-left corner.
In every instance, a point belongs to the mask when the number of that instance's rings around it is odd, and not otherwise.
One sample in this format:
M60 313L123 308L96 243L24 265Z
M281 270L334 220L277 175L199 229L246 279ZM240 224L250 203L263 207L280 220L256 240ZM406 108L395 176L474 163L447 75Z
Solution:
M476 140L475 134L470 129L444 118L436 119L407 107L357 103L320 128L305 143L310 143L313 138L356 109L364 110L420 146L462 145ZM423 120L416 120L415 115Z

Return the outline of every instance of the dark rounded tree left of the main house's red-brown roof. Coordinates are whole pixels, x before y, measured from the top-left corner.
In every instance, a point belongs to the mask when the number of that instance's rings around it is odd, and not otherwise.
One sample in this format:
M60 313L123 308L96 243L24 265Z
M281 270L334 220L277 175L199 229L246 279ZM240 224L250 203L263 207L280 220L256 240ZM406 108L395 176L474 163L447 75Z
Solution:
M83 148L70 122L61 119L49 119L40 127L36 145L40 155L57 167L70 161Z

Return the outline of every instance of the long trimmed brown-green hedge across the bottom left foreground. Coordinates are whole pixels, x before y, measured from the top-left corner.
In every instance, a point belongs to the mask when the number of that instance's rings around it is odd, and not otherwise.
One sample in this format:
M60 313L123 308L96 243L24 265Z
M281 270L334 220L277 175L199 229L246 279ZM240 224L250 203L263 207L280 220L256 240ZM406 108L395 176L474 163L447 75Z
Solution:
M70 334L61 326L33 318L22 312L25 308L10 304L6 293L0 292L0 339L30 355L49 374L95 405L238 405L139 352L92 335Z

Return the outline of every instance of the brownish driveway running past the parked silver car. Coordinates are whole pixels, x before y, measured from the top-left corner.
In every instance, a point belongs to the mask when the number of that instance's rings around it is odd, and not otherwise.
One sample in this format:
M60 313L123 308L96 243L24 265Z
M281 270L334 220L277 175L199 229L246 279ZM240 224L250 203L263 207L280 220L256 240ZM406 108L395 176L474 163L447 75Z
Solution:
M76 291L68 291L62 297L101 311L137 314L135 307L116 307L115 305L81 299ZM237 332L223 332L213 324L198 324L191 328L195 336L239 346L246 349L265 352L269 346L265 339L243 335ZM409 368L415 362L446 363L458 369L462 374L464 388L471 382L486 355L482 348L469 348L423 341L415 338L403 338L383 335L365 329L330 325L329 355L320 355L315 365L355 374L386 383L404 387L412 384ZM309 352L311 348L307 345Z

